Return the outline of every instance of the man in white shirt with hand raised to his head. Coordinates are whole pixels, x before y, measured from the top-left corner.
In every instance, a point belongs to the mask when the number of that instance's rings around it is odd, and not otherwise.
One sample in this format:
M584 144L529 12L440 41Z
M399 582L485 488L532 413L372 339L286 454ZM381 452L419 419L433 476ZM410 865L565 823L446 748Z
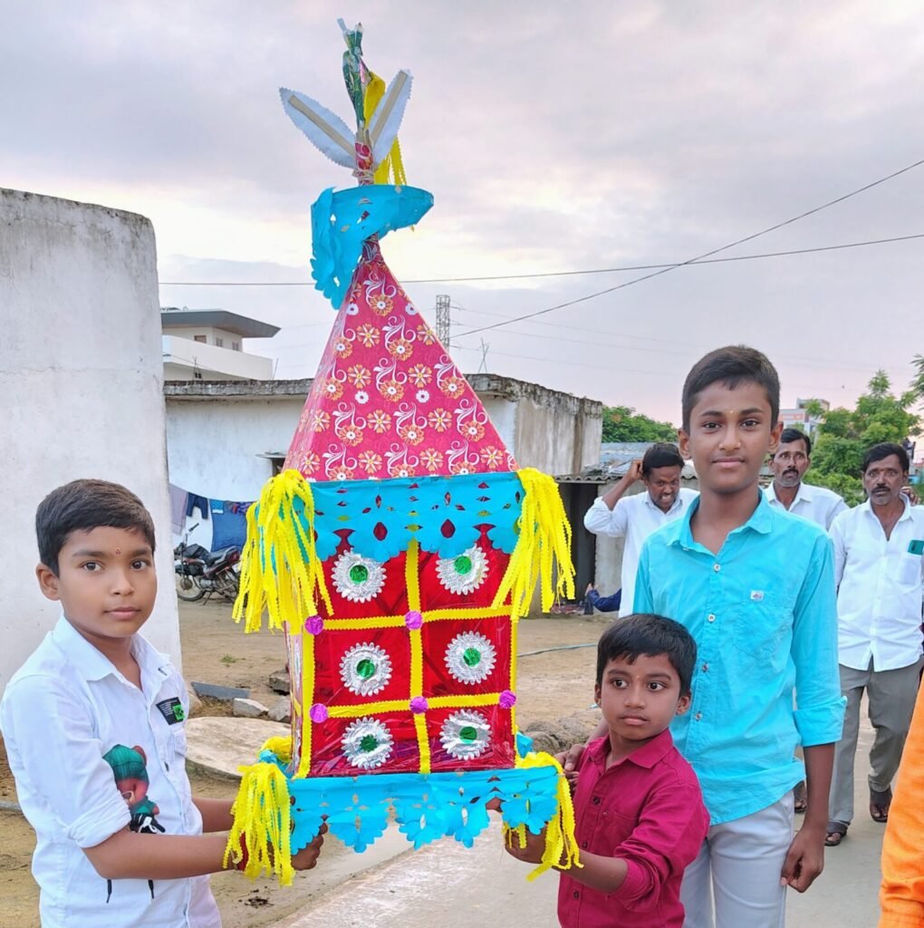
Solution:
M696 490L681 489L680 473L684 459L675 445L651 445L645 457L632 462L622 480L603 496L584 516L584 528L595 535L625 538L622 551L622 604L620 615L631 615L635 599L635 572L645 539L661 525L674 522L699 496ZM637 480L647 492L625 496ZM624 497L624 498L623 498Z

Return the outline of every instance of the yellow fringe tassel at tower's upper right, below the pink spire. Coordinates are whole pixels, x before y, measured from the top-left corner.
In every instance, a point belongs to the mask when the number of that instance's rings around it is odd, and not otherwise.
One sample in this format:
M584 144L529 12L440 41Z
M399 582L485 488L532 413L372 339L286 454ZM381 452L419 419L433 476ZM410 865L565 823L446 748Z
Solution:
M543 612L552 608L556 594L574 598L574 566L571 563L571 525L558 493L558 484L534 468L517 471L523 486L520 538L497 600L510 594L511 618L530 611L536 583L540 585ZM552 578L555 577L555 586Z

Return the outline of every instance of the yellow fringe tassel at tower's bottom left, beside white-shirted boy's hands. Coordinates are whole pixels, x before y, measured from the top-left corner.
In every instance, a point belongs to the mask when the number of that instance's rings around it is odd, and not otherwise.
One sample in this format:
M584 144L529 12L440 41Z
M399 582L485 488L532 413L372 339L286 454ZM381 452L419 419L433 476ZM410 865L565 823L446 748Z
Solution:
M291 817L286 777L276 764L258 763L238 769L242 779L231 806L234 824L225 846L224 866L227 868L229 860L238 863L246 844L244 873L251 880L275 874L279 883L289 886L295 870L289 844Z

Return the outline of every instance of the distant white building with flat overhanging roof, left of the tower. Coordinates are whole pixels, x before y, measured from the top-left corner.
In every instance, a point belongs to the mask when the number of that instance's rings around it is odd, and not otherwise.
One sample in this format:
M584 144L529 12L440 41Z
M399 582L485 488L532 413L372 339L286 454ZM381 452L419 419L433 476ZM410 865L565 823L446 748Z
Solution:
M270 380L273 359L243 350L244 339L270 339L279 331L224 309L160 310L164 380Z

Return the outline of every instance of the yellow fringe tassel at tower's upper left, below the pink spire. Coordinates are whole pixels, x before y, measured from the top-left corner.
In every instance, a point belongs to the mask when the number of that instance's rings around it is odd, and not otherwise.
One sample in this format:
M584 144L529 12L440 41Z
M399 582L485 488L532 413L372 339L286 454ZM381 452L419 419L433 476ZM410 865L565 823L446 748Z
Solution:
M305 531L297 513L301 500ZM232 616L244 619L246 632L259 631L263 612L269 627L296 625L317 612L316 592L328 611L330 597L321 561L314 549L314 498L311 484L298 470L284 470L263 487L259 501L247 510L247 542L240 557L240 592Z

